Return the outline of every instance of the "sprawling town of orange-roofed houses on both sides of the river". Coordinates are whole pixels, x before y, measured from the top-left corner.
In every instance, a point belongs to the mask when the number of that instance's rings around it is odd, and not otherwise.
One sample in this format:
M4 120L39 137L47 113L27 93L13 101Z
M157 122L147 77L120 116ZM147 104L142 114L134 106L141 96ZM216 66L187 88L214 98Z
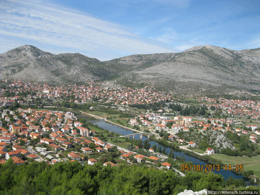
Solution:
M178 103L179 99L172 94L156 92L152 86L110 89L92 82L68 86L21 80L7 83L8 87L0 91L1 163L12 157L18 165L31 161L49 164L79 161L82 165L146 163L147 166L172 168L174 162L168 157L176 160L174 155L161 148L142 141L138 145L122 135L100 130L91 123L87 125L86 121L80 122L82 119L77 118L73 111L55 110L56 105L60 108L62 105L54 103L62 100L75 105L87 104L90 115L95 117L97 114L97 118L113 121L115 125L120 125L120 120L127 120L123 126L121 124L122 127L144 135L148 133L148 137L153 135L157 142L198 155L221 153L250 157L259 154L259 101L196 97L200 106L196 112L201 113L194 114L192 109L197 107ZM37 103L39 100L51 105L44 107ZM134 117L124 119L121 114L121 119L113 119L113 114L102 115L102 109L109 109L111 105L114 110L118 109L117 113ZM149 105L156 105L154 108L164 106L157 110L141 109ZM132 107L138 108L135 114L129 114ZM113 142L113 136L118 143L125 145L118 146ZM235 141L237 136L239 142ZM247 147L250 150L242 147L244 142L249 143Z

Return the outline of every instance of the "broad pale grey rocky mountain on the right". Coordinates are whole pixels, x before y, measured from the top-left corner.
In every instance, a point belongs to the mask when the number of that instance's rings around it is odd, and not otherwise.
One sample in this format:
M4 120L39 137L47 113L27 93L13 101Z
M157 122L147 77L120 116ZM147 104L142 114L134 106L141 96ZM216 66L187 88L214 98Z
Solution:
M153 85L182 93L260 90L260 57L211 45L181 53L131 55L106 62L124 71L122 85Z

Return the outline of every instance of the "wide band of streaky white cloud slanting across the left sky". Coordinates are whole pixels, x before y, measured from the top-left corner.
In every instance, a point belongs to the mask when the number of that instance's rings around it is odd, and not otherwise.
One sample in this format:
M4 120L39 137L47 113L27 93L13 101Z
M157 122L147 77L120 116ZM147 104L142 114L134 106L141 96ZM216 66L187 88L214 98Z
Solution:
M174 52L160 42L125 30L127 27L122 25L43 1L4 0L0 2L0 12L0 36L18 43L38 43L36 47L49 46L47 51L64 47L99 60L134 53ZM162 36L160 41L166 38ZM0 50L5 52L5 48L2 43ZM54 53L61 51L65 50L57 49Z

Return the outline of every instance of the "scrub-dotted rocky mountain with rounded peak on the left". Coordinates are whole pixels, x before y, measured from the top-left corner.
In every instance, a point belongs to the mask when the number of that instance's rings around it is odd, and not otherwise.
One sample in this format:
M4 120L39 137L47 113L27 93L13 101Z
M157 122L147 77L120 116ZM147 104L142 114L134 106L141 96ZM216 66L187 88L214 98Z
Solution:
M0 78L49 83L102 80L113 74L106 64L79 53L54 55L25 45L0 55Z

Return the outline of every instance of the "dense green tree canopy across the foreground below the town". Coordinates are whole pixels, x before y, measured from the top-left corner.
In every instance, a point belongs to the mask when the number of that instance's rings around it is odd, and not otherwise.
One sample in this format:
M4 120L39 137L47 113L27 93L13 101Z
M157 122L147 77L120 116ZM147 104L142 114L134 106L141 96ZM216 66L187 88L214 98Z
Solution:
M228 187L229 186L229 187ZM180 177L148 166L69 163L0 164L0 194L177 194L185 189L246 189L243 180L207 172ZM244 186L244 187L242 187ZM250 186L248 189L257 189ZM259 187L258 187L259 188Z

